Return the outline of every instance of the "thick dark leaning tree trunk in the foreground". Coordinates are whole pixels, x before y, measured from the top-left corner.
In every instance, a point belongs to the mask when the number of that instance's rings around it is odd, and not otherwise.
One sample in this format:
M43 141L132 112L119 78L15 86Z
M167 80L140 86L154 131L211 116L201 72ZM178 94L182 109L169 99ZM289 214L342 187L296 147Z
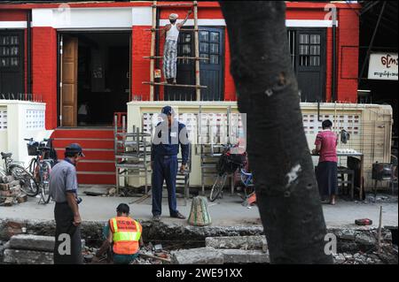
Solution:
M271 263L332 263L283 1L220 1Z

